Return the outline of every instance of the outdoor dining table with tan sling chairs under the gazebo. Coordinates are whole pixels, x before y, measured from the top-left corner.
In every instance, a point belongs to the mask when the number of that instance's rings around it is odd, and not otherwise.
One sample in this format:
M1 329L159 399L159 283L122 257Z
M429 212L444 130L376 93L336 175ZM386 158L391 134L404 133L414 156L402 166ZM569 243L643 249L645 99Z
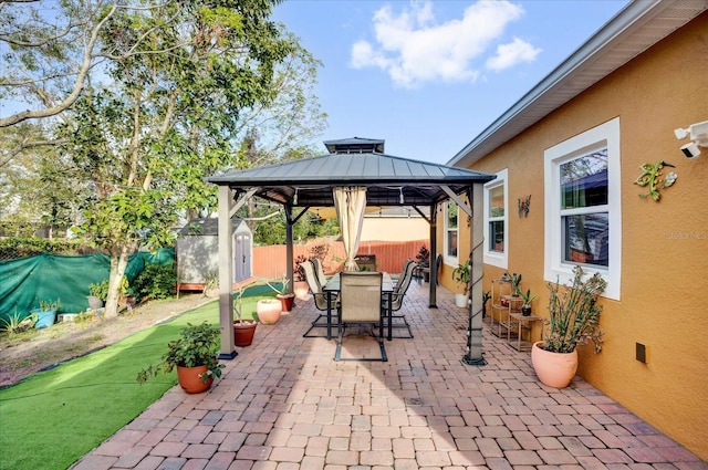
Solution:
M394 281L389 273L381 271L342 271L331 278L317 258L300 263L314 300L315 307L322 313L304 333L305 337L332 338L333 327L337 328L334 361L388 361L384 337L412 338L410 324L399 312L406 291L413 280L417 264L412 260L404 263L400 276ZM342 357L342 341L347 327L371 324L372 332L377 330L381 357ZM315 334L315 328L325 328L324 335ZM394 336L394 330L405 330ZM373 333L372 333L373 335Z

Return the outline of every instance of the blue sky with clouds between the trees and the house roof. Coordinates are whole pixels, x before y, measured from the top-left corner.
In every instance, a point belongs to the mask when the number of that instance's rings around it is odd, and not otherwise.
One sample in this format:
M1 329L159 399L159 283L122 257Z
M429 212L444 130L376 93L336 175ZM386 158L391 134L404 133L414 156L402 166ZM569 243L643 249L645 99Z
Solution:
M626 0L289 0L273 19L324 65L314 143L368 137L445 164Z

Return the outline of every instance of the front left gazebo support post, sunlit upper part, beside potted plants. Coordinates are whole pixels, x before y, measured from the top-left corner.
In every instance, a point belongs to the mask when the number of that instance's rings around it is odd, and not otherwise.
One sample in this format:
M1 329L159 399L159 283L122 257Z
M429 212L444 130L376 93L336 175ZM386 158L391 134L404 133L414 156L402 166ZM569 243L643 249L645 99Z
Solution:
M233 342L233 253L231 246L231 189L219 186L219 325L221 347L219 359L232 359L238 353Z

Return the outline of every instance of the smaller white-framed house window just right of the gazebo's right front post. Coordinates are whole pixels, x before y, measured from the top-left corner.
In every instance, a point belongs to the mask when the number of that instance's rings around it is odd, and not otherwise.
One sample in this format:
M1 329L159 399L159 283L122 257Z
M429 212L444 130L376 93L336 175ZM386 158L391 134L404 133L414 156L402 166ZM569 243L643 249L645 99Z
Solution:
M485 263L507 269L507 169L485 185Z

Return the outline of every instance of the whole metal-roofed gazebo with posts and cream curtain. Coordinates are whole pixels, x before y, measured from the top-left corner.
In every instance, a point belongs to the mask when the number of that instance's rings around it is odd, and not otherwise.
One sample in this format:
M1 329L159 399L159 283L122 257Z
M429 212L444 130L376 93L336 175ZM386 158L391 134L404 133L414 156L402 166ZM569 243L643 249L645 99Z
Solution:
M430 224L430 259L437 255L436 207L454 200L471 219L470 313L468 351L462 361L485 364L482 358L482 223L483 185L493 175L384 154L384 140L348 138L326 140L331 152L313 158L279 165L229 171L207 178L219 186L219 321L221 351L219 358L236 357L233 345L231 218L249 198L258 197L283 207L288 276L293 275L292 226L310 209L335 207L342 229L347 261L345 269L356 269L353 254L358 244L366 207L412 207ZM467 201L461 196L467 196ZM428 207L429 217L420 210ZM225 236L222 236L225 234ZM475 242L476 241L476 242ZM436 306L436 270L430 270L429 306Z

